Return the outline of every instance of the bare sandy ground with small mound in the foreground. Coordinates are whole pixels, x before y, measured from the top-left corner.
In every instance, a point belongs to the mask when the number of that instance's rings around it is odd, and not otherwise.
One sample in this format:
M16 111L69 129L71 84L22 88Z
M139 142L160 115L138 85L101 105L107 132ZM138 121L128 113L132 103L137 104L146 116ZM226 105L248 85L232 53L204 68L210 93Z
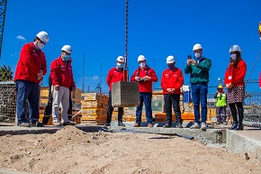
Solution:
M0 168L30 173L261 173L261 162L226 148L152 133L85 133L0 137Z

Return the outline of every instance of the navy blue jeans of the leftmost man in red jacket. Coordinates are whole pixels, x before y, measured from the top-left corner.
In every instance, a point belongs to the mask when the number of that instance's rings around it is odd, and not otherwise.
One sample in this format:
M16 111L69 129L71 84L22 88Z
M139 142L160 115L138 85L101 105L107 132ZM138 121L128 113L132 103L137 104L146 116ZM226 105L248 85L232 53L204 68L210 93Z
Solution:
M25 118L25 102L28 103L29 121L36 123L39 119L39 84L26 80L15 81L16 85L16 114L18 124L28 122Z

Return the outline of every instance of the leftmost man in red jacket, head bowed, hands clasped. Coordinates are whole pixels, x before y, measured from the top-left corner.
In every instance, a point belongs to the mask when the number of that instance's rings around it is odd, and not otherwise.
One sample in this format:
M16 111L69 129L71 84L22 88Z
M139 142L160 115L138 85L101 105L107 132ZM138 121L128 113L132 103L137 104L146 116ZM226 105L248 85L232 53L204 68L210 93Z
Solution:
M39 122L40 81L47 72L45 54L42 48L49 42L47 32L36 34L34 41L26 43L20 53L14 82L16 85L16 113L18 125L42 127ZM25 117L25 102L29 106L29 121Z

